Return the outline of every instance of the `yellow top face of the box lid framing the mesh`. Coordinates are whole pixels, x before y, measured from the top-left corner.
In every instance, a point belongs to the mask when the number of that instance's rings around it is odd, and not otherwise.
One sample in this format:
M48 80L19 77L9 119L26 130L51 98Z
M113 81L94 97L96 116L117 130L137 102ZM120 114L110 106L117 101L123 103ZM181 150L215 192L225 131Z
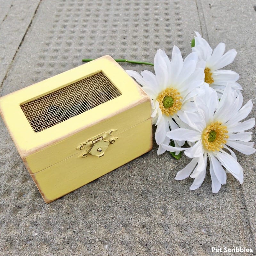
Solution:
M115 97L99 105L96 104L87 111L72 116L72 118L59 120L60 122L57 122L56 125L44 129L33 127L23 106L29 102L36 102L39 98L58 90L61 91L62 88L99 73L106 76L114 85L117 92ZM3 96L0 98L0 111L16 148L24 159L32 153L58 143L72 134L92 127L111 116L133 108L145 101L150 102L150 99L140 86L115 60L110 56L104 56ZM150 111L147 111L145 113L145 120L149 117Z

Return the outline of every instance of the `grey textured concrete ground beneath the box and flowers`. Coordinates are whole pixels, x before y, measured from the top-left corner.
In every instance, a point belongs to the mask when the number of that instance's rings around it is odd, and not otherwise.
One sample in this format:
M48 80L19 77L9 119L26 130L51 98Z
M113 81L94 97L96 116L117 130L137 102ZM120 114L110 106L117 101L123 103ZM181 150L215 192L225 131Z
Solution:
M235 48L244 103L255 104L252 0L0 0L1 95L81 65L82 58L153 61L156 49L184 56L199 31L212 47ZM141 71L152 67L122 64ZM255 107L250 117L255 116ZM0 120L0 255L255 255L255 155L237 153L244 184L232 176L218 194L207 174L174 177L188 163L152 151L45 204ZM255 128L252 129L255 141ZM213 253L212 247L253 253Z

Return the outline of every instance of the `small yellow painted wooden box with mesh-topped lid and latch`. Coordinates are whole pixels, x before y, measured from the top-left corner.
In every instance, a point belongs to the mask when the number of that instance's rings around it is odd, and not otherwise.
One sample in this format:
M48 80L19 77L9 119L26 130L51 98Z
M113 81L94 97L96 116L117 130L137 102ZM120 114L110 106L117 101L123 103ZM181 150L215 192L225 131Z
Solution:
M10 93L0 110L46 203L152 148L150 99L110 56Z

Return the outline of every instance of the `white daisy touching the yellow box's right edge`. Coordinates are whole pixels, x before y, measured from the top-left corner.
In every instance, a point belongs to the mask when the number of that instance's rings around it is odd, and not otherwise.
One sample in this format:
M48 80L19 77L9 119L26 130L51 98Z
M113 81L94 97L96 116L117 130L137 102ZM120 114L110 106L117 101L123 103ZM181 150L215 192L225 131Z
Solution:
M172 50L172 61L163 50L157 50L154 59L155 74L144 70L140 74L133 70L126 72L135 78L142 89L152 99L153 124L157 125L155 139L159 145L157 154L163 154L165 149L161 144L169 144L166 137L168 131L184 127L179 116L184 111L193 111L193 89L204 83L204 69L196 68L197 54L190 53L183 61L177 46ZM174 141L181 147L185 141Z

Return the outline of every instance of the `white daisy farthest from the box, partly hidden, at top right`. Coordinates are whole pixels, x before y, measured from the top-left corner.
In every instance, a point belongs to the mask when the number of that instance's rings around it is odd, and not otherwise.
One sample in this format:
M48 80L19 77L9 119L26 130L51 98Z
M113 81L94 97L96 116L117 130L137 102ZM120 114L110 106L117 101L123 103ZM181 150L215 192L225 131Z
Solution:
M233 62L236 57L236 50L232 49L224 54L226 45L220 43L212 51L204 38L198 32L195 33L195 46L192 47L192 52L198 54L198 63L200 63L201 68L204 68L205 83L217 91L219 98L227 83L239 93L242 90L241 85L236 83L239 75L234 71L221 69Z

